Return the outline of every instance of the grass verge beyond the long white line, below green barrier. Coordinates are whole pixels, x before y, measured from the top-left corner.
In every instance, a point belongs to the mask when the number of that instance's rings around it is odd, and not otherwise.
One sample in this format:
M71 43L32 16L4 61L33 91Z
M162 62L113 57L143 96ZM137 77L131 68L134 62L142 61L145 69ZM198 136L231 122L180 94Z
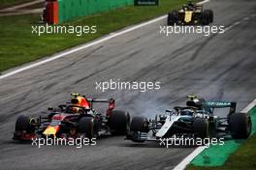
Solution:
M89 42L112 31L142 22L180 7L186 0L161 0L158 7L125 7L105 14L80 17L68 25L97 25L97 33L76 35L31 34L31 25L39 21L39 14L0 16L0 71L48 56L63 49Z

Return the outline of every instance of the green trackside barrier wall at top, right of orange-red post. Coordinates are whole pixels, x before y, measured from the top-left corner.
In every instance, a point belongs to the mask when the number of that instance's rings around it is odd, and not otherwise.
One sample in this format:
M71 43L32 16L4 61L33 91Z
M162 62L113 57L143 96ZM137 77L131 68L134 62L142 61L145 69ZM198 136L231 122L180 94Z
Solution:
M134 0L58 0L58 22L133 4Z

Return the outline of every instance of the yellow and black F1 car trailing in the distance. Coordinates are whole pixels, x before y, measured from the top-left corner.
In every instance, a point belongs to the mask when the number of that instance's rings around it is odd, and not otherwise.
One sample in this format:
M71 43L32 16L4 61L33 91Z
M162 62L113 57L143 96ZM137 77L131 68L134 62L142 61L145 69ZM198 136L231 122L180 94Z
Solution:
M168 25L208 25L213 22L212 10L203 10L203 5L188 2L182 9L168 14Z

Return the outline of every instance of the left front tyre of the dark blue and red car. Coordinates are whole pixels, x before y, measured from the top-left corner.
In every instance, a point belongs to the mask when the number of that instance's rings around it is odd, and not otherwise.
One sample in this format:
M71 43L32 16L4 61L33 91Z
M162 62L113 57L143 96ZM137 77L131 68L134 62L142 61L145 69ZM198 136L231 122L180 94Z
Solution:
M33 119L27 116L21 115L16 119L16 131L33 132L35 130L34 126L31 125Z

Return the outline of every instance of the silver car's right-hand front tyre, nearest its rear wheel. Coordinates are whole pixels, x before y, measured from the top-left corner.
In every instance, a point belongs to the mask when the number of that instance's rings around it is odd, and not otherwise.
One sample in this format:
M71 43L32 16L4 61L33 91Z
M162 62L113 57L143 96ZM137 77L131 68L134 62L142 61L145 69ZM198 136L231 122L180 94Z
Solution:
M193 123L194 133L196 137L205 139L208 137L208 121L203 118L196 118Z

